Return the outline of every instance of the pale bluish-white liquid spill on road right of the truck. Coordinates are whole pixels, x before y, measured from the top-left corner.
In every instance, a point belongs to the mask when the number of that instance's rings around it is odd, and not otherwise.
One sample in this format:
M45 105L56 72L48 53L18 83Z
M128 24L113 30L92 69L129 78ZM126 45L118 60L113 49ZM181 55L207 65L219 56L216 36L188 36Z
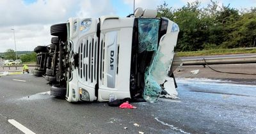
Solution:
M207 78L177 78L179 89L195 93L212 93L231 96L256 97L256 86L241 84L230 80L212 80Z

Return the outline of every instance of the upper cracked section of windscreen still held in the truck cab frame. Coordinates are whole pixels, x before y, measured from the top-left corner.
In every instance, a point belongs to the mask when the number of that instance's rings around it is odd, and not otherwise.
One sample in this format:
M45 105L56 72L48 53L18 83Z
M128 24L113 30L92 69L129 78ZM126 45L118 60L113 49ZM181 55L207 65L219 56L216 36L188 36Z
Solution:
M139 53L157 50L159 19L139 19Z

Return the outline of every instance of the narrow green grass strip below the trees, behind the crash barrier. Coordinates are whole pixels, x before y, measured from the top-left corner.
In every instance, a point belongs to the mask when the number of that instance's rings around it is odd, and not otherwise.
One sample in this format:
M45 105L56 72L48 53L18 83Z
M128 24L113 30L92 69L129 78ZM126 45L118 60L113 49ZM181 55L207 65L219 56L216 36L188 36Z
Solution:
M177 56L214 56L223 54L252 54L256 53L256 48L234 48L234 49L212 49L212 50L200 50L193 52L177 52Z

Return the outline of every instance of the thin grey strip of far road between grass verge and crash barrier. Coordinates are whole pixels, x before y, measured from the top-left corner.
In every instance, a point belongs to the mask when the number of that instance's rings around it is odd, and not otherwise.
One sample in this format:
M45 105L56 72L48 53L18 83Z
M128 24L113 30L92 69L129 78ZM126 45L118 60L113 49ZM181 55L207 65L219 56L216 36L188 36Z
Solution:
M225 59L225 58L246 58L256 57L256 54L227 54L227 55L216 55L216 56L191 56L191 57L180 57L182 61L197 60L197 59Z

